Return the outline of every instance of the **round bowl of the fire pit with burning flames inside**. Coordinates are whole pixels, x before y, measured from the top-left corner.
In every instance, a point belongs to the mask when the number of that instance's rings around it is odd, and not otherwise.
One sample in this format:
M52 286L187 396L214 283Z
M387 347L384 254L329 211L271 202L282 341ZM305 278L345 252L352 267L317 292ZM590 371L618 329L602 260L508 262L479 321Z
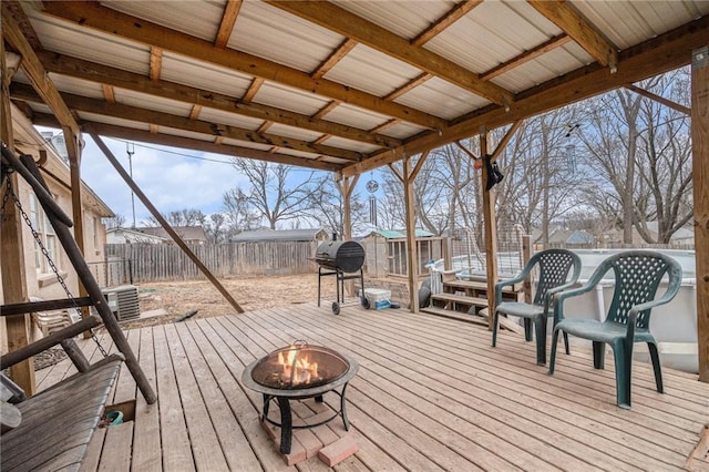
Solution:
M260 359L251 378L274 389L308 389L339 379L349 367L347 359L332 349L296 341Z

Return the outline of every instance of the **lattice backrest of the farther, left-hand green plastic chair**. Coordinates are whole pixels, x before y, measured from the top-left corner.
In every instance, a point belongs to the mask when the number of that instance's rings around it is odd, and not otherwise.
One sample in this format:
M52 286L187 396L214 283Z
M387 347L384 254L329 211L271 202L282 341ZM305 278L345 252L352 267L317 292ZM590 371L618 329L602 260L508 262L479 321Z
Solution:
M545 249L536 253L530 258L527 267L538 265L540 275L536 284L536 293L534 294L533 304L544 305L546 293L567 280L576 281L580 274L580 258L576 253L568 249ZM572 273L572 278L568 276Z

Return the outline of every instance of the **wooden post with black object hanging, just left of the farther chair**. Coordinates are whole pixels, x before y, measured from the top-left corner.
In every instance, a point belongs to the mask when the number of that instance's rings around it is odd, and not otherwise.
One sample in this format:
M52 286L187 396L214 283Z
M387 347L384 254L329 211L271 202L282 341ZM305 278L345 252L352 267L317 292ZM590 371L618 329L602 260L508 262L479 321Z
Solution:
M487 131L480 134L480 155L485 158L487 151ZM495 312L495 284L497 284L497 222L495 217L495 188L486 189L487 166L483 165L483 218L485 225L485 265L487 271L487 329L492 331L492 318Z

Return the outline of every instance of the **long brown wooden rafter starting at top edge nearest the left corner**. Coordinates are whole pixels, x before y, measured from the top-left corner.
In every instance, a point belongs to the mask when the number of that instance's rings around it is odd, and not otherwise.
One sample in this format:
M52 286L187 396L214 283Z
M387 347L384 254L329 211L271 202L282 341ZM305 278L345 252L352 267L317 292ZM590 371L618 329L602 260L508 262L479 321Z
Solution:
M383 115L397 116L420 126L439 130L446 125L445 120L420 110L394 102L387 102L371 93L326 79L314 80L308 73L253 54L233 49L215 48L208 41L137 17L121 13L97 2L45 2L43 6L47 13L81 27L93 28L112 35L147 45L155 45L179 54L184 54L184 51L189 51L192 58L206 63L226 66L295 89L340 100ZM408 42L407 45L410 47ZM469 71L466 73L470 74ZM495 88L493 86L493 89Z

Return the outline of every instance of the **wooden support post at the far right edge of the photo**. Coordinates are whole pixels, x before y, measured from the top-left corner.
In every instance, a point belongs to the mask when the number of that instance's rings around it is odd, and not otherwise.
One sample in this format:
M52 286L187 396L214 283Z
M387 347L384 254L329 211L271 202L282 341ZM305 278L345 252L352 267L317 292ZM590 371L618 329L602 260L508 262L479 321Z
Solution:
M691 148L697 248L699 380L709 382L709 45L692 52Z

